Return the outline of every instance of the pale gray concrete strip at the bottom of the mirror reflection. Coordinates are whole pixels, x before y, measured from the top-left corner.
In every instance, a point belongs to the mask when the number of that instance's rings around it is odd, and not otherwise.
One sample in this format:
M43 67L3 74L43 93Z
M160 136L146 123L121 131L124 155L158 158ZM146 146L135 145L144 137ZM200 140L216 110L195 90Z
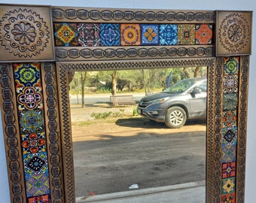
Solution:
M205 181L76 198L77 203L204 203Z

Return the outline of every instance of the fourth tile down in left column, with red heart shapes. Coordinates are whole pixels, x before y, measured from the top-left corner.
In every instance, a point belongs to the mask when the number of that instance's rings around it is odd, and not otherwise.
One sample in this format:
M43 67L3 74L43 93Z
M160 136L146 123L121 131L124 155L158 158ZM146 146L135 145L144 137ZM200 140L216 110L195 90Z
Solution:
M44 132L32 132L29 135L22 135L23 154L45 152L46 141Z

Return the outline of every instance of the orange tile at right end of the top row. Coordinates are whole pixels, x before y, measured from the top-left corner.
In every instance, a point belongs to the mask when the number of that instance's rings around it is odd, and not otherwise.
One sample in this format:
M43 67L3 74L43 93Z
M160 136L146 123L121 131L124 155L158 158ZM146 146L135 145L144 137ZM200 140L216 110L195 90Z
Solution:
M196 25L196 44L212 44L212 24Z

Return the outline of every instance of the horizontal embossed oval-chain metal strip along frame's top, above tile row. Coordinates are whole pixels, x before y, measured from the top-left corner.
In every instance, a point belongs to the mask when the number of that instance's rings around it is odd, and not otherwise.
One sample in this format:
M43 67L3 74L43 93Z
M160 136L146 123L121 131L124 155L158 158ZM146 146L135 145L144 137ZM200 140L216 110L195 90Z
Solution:
M211 23L214 20L213 11L53 7L53 22Z

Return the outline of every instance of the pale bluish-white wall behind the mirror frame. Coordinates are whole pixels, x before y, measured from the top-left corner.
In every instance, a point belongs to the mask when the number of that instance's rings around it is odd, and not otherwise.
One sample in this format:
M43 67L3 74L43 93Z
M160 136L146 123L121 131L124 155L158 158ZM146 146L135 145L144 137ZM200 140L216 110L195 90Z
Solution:
M17 0L5 0L1 3L15 4ZM256 11L256 2L253 0L182 0L182 1L170 1L170 0L23 0L23 4L26 5L62 5L62 6L76 6L76 7L94 7L94 8L151 8L151 9L170 9L170 10L244 10L244 11ZM254 14L253 28L256 27L256 14ZM250 77L249 77L249 99L248 99L248 132L247 132L247 156L246 156L246 177L245 177L245 203L255 202L254 193L256 187L256 175L255 169L256 162L254 155L256 155L256 131L254 130L256 108L256 94L253 92L253 88L256 86L256 32L252 33L253 45L252 55L250 62ZM1 125L0 125L1 126ZM1 130L1 129L0 129ZM0 131L2 132L2 131ZM5 151L3 150L3 138L0 136L0 174L5 178L6 164L3 159ZM9 202L8 192L2 189L2 182L0 181L0 196L1 202ZM7 187L6 185L3 185ZM6 199L6 201L3 201Z

